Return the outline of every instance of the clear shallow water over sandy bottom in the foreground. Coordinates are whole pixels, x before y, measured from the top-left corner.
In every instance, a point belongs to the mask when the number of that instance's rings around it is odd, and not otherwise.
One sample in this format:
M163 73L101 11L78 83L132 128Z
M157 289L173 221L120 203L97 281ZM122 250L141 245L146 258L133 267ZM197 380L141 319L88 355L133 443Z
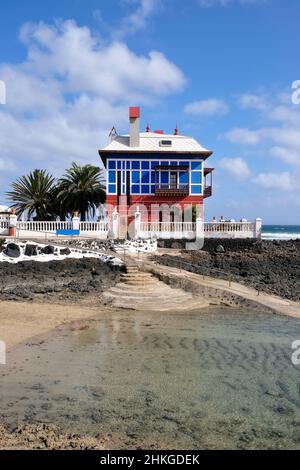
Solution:
M116 448L299 449L296 339L299 320L247 311L106 314L10 352L0 415Z

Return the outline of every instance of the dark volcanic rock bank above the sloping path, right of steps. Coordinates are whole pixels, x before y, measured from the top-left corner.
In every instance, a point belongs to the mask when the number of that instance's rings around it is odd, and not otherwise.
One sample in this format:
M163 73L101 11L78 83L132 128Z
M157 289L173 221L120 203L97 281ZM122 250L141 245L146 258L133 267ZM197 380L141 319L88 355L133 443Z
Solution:
M200 251L181 249L180 241L162 245L177 250L155 256L157 263L300 301L300 240L209 239Z

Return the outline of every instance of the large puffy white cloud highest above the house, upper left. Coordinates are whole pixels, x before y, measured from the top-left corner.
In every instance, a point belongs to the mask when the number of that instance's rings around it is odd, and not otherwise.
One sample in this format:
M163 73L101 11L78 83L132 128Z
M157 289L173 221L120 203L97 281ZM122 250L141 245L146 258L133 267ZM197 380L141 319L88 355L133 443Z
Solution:
M63 81L63 90L95 93L109 100L145 99L181 89L183 73L162 53L137 55L125 43L101 43L72 20L49 26L27 24L26 70L42 79Z

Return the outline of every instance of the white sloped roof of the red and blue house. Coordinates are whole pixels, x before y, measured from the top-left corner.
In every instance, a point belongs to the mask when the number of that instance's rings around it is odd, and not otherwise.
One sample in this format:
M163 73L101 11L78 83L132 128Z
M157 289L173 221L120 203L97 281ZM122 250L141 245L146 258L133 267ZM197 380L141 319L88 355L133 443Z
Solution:
M161 140L171 140L172 146L161 147ZM193 137L173 134L157 134L155 132L140 133L140 146L129 146L129 135L117 135L99 153L107 152L161 152L161 153L202 153L209 156L212 152L200 145Z

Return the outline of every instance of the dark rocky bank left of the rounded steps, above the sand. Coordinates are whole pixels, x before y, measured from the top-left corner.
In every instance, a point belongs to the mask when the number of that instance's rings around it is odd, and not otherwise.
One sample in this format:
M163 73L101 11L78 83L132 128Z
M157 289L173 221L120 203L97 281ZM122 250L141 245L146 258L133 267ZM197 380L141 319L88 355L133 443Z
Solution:
M65 303L98 296L119 282L123 269L96 258L1 263L0 299Z

